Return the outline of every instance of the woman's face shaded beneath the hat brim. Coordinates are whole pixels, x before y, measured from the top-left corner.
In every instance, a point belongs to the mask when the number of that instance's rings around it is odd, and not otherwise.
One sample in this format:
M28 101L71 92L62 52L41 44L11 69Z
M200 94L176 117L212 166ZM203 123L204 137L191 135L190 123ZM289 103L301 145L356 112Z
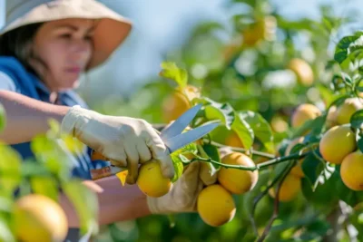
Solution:
M93 23L58 20L43 24L35 34L30 63L52 92L73 88L90 61Z

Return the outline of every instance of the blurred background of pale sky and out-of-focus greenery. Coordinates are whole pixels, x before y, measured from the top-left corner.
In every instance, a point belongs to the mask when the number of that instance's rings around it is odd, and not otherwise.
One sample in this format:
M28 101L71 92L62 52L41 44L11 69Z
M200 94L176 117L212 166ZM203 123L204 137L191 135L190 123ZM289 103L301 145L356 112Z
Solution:
M83 75L78 92L92 109L171 121L168 113L178 105L172 106L170 94L177 84L159 75L161 63L169 61L187 70L188 83L201 95L229 102L238 111L259 112L269 121L276 143L287 137L290 113L299 103L321 109L329 104L338 85L338 70L329 64L335 45L363 24L361 0L101 2L132 19L134 27L107 63ZM5 0L0 0L0 26L4 9ZM220 132L214 137L227 136ZM207 226L197 214L175 220L152 216L103 227L97 241L253 241L248 217L252 195L235 197L236 218L222 227ZM272 204L270 197L260 202L255 214L259 229L270 218ZM268 241L288 241L284 239L295 233L289 221L311 223L305 238L317 240L299 241L320 241L325 227L303 220L307 211L303 196L282 204L277 223L284 226L272 229Z

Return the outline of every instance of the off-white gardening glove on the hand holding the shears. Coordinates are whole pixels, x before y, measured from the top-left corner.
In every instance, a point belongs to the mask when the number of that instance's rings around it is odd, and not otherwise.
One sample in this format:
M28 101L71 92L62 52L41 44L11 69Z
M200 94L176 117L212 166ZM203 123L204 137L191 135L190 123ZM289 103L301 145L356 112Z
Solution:
M103 115L76 105L64 116L61 132L100 152L113 165L128 168L129 184L136 182L139 164L152 159L160 162L165 178L174 176L169 151L147 121Z

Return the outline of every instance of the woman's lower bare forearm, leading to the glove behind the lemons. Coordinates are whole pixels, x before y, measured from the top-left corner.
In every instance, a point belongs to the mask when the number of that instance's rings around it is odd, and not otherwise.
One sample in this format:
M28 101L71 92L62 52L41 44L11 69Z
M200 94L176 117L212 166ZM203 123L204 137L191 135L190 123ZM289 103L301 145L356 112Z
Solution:
M141 218L151 214L146 195L137 185L126 183L122 186L120 180L114 176L95 181L85 181L84 183L97 193L100 225ZM79 227L76 211L64 194L61 195L60 204L68 218L68 226Z

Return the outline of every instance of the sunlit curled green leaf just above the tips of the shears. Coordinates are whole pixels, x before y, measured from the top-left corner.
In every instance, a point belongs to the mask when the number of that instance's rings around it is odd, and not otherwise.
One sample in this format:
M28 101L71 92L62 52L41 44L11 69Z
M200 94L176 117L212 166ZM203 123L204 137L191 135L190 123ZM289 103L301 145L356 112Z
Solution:
M209 121L221 121L227 129L231 129L231 124L235 119L235 112L230 103L214 102L206 97L196 98L193 102L204 105L205 118Z

